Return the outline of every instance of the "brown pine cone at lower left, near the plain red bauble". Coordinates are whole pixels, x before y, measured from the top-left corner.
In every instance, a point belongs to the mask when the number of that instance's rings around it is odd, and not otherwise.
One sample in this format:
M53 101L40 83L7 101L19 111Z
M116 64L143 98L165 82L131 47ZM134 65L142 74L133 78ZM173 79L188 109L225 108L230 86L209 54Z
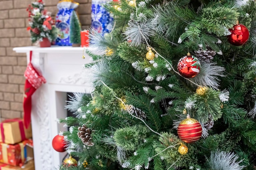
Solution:
M79 127L78 130L79 132L77 133L77 135L79 138L81 138L83 144L87 146L93 146L94 143L92 143L92 137L91 137L92 131L90 130L90 128L87 128L85 124L83 124L83 126Z

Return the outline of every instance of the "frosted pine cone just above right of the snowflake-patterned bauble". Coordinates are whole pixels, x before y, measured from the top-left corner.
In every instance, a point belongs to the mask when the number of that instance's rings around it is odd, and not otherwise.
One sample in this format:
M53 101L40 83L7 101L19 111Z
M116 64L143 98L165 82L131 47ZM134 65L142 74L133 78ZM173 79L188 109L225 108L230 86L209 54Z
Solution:
M216 51L213 51L208 46L206 47L207 50L203 50L202 47L199 47L198 51L195 52L195 56L200 61L208 62L210 63L213 57L216 55Z

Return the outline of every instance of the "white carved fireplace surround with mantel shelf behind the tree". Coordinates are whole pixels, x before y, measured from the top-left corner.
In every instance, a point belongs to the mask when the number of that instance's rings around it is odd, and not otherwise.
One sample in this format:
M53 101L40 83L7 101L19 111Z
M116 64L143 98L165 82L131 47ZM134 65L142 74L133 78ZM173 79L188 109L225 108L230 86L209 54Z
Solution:
M16 53L33 51L32 64L45 77L43 84L32 95L31 124L34 142L36 170L58 169L66 152L59 153L52 148L52 139L60 131L66 131L57 118L67 117L67 92L92 92L92 83L86 79L84 64L90 62L88 55L82 59L83 48L71 46L16 47Z

